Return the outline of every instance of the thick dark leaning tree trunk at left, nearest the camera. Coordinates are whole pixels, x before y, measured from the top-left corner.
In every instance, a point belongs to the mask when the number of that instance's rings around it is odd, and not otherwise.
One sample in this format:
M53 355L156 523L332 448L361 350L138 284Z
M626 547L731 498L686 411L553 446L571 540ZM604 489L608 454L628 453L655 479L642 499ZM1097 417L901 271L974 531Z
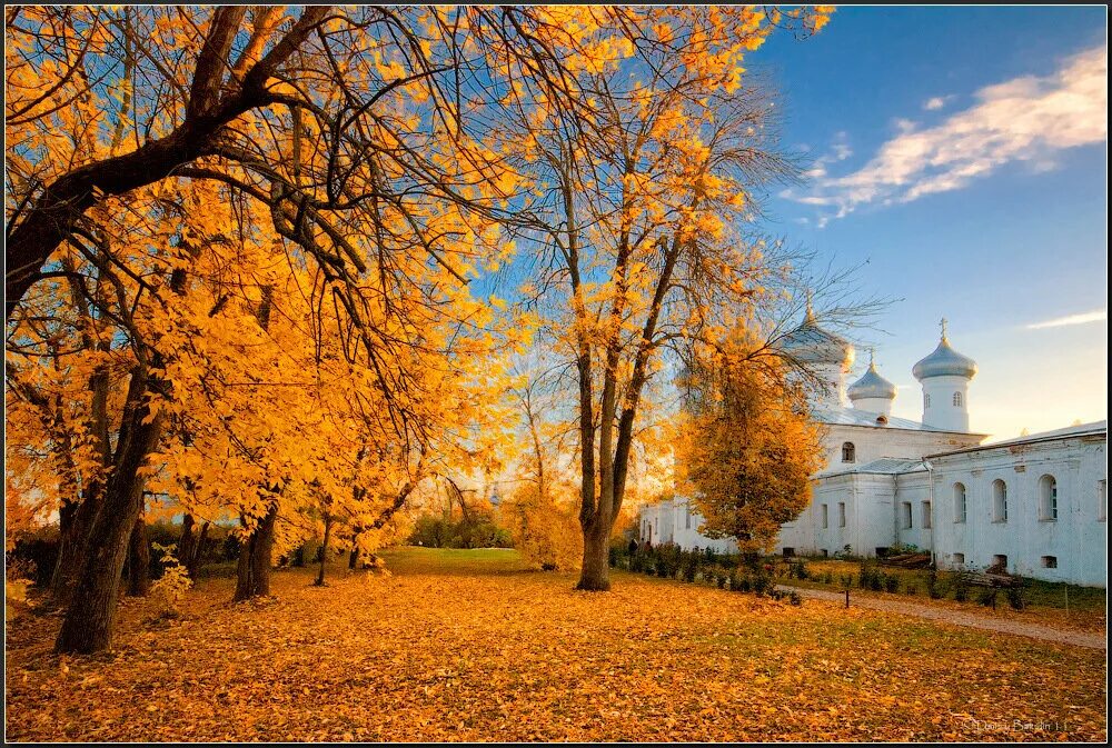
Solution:
M133 371L105 501L89 532L81 574L66 611L54 649L93 654L111 647L120 591L120 572L128 541L142 509L143 478L139 468L158 447L161 413L151 416L146 402L148 378ZM145 423L143 420L147 420Z

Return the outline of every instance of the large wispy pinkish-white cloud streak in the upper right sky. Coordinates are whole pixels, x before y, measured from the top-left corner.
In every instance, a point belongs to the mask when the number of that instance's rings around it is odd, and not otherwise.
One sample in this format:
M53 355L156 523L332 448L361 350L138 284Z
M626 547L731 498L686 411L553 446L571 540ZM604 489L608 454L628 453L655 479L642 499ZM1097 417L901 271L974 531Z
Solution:
M1026 162L1036 171L1054 168L1058 151L1108 137L1108 48L1075 54L1050 76L987 86L974 98L973 107L935 127L896 120L896 134L852 173L828 173L827 166L844 158L835 144L812 170L810 191L788 190L783 197L830 208L828 220L862 206L962 189L1010 162ZM844 137L840 133L838 142ZM816 219L816 226L825 222Z

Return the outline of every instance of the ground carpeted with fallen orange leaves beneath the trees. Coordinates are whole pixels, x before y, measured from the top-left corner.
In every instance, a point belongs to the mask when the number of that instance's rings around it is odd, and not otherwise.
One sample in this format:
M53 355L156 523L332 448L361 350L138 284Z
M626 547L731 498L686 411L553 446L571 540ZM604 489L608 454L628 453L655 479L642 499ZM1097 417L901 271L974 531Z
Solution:
M615 575L513 551L407 549L394 576L278 572L234 606L202 581L117 649L50 654L9 624L14 740L1100 740L1104 652L808 600Z

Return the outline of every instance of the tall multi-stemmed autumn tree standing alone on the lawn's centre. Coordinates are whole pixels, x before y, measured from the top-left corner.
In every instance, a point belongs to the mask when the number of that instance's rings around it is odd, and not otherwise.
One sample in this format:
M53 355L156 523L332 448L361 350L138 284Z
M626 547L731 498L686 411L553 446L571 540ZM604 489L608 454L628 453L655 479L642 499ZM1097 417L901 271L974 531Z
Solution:
M745 227L761 187L795 173L743 58L775 26L815 30L827 10L652 8L617 39L606 10L562 12L586 40L569 84L593 111L527 107L514 89L507 138L538 196L522 233L546 271L525 291L577 380L578 588L605 590L646 383L673 341L752 315L771 263Z

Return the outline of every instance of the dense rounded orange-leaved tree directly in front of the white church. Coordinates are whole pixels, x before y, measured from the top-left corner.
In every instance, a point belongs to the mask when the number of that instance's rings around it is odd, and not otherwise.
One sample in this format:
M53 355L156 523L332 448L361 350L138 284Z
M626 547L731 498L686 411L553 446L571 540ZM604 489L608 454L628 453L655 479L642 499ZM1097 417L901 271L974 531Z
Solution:
M749 333L699 347L681 386L683 438L677 463L699 532L732 538L744 552L767 551L780 526L811 500L823 466L822 429L804 383Z

